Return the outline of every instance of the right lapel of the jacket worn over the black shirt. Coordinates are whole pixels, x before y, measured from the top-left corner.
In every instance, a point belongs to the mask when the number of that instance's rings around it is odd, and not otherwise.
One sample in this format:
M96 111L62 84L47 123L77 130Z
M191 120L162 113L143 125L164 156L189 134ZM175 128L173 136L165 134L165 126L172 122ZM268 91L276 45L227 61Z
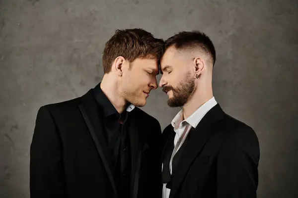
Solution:
M132 156L132 192L133 198L138 196L139 177L142 159L142 134L140 133L140 123L137 117L137 109L134 109L129 116L130 118L130 142L131 142L131 156Z

